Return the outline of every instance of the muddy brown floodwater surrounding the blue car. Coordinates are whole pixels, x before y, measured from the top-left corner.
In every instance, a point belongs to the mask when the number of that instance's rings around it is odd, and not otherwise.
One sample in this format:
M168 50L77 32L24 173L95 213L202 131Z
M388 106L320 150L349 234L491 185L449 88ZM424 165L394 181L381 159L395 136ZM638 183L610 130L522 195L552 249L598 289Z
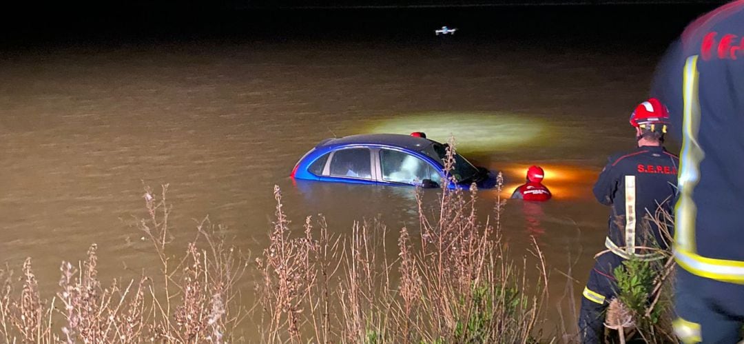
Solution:
M289 172L323 138L420 130L452 134L461 153L504 171L508 188L528 165L545 167L555 199L507 203L504 234L519 255L536 235L551 319L561 309L571 328L565 288L580 298L606 233L609 209L591 185L609 153L632 148L626 121L655 57L513 48L193 42L4 55L0 261L19 268L32 257L47 296L60 262L91 243L104 280L152 266L131 227L145 214L143 183L170 183L176 233L208 215L253 257L267 245L274 185L297 226L322 213L335 233L370 217L397 231L417 219L411 188L293 182ZM496 193L479 196L485 217ZM569 267L577 281L559 273Z

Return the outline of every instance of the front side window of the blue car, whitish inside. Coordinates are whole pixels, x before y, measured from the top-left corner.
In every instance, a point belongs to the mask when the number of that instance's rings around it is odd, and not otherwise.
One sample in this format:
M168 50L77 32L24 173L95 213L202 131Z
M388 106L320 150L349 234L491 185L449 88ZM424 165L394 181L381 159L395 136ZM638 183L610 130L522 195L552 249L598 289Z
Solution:
M439 182L439 173L428 162L397 150L380 150L382 179L388 182L420 184L423 179Z

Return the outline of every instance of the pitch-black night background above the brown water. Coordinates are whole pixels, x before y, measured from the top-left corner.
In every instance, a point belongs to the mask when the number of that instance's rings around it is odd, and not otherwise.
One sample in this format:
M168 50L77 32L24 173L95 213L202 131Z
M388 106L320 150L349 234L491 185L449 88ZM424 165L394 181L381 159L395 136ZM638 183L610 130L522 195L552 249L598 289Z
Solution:
M0 29L4 48L173 39L406 41L432 39L434 28L442 25L460 28L460 39L547 37L568 44L583 39L577 43L603 45L617 39L670 39L691 19L719 4L685 0L25 2L4 13Z

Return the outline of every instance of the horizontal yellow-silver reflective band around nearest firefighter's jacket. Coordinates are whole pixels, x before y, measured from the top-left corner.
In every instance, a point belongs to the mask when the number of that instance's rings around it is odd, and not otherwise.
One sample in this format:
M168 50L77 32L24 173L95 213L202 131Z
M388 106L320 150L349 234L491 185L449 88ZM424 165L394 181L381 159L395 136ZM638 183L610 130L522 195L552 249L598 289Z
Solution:
M703 257L681 247L674 250L674 258L684 270L705 278L744 284L744 261L727 261Z

